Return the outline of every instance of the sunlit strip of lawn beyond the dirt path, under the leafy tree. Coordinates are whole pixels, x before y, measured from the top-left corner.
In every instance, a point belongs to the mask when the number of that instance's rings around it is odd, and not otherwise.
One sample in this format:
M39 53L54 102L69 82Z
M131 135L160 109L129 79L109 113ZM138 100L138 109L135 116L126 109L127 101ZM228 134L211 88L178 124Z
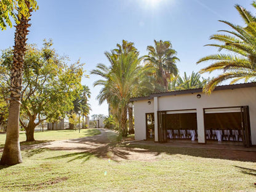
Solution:
M49 142L52 140L66 140L71 138L90 137L100 134L98 129L81 129L78 130L44 130L44 132L34 132L35 142L25 142L25 132L20 133L20 145L32 145ZM0 147L6 142L6 134L0 134Z

